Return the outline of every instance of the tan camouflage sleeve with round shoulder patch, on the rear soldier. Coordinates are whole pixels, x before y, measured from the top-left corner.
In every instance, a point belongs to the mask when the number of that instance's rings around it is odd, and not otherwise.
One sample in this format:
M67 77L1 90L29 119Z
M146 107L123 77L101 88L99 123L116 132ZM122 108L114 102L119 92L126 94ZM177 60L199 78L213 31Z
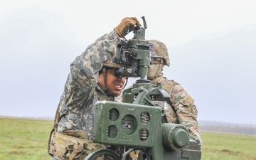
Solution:
M171 102L174 105L178 121L188 128L191 139L201 141L197 121L198 110L191 95L188 95L181 85L176 84L171 92Z

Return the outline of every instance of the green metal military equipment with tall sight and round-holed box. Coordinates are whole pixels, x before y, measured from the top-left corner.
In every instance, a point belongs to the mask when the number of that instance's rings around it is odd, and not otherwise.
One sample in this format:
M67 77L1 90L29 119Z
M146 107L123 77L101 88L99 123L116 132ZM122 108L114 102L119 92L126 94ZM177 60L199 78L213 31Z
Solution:
M145 40L144 27L134 30L134 37L118 46L114 63L124 65L115 75L139 79L122 92L123 103L99 101L96 105L92 141L105 144L85 160L122 160L132 151L139 151L139 160L200 160L201 144L189 141L188 129L168 122L168 93L146 80L151 65L151 44ZM111 148L118 146L120 154ZM125 148L129 149L125 151ZM135 160L134 159L134 160Z

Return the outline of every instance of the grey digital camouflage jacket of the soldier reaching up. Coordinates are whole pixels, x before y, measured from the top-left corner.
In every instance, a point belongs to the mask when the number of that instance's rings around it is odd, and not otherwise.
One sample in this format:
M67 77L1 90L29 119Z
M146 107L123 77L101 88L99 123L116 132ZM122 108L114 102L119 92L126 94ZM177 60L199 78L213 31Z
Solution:
M121 42L115 31L98 38L88 46L82 55L70 64L70 73L60 97L60 122L57 132L65 134L69 130L87 132L92 138L95 102L110 100L97 85L98 73L107 60L116 52ZM60 159L54 156L53 159ZM81 156L79 159L85 159Z

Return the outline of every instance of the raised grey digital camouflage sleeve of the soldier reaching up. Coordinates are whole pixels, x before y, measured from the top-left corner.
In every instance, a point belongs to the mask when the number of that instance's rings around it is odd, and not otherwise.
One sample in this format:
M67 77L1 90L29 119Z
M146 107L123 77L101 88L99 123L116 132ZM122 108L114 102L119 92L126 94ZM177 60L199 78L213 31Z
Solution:
M68 110L79 112L80 107L90 100L95 92L98 72L105 61L112 58L118 43L119 36L115 31L111 31L88 46L85 52L70 64L70 73L60 97L63 106L60 114L65 114Z

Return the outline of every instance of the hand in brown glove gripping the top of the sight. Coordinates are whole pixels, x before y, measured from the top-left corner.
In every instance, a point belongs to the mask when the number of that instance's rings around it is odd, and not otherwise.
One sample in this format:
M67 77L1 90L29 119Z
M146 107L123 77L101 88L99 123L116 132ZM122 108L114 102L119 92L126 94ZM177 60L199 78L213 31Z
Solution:
M121 23L114 28L118 36L124 38L129 32L133 31L135 26L140 27L140 23L135 17L123 18Z

